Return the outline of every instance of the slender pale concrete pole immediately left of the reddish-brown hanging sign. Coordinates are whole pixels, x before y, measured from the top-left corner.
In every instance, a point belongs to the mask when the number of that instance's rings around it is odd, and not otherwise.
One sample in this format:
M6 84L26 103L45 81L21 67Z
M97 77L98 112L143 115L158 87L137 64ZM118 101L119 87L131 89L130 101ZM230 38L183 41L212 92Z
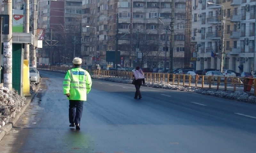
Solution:
M34 12L33 12L33 35L34 42L32 46L32 66L36 67L36 0L34 0Z

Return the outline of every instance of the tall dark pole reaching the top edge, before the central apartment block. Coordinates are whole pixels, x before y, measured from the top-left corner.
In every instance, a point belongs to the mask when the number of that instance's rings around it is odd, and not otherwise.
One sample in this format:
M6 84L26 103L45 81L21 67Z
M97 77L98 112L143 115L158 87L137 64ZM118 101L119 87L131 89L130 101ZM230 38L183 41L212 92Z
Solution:
M174 27L173 27L173 23L174 23L174 4L175 1L172 1L172 18L171 18L171 23L170 23L170 27L171 27L171 34L170 34L170 71L173 69L173 47L174 47Z

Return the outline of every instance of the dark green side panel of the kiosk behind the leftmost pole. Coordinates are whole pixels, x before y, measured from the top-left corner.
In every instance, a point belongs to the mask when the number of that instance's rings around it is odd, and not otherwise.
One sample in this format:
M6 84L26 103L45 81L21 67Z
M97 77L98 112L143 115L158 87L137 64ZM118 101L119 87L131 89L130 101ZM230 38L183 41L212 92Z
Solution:
M21 88L21 50L22 44L12 44L12 88L20 95Z

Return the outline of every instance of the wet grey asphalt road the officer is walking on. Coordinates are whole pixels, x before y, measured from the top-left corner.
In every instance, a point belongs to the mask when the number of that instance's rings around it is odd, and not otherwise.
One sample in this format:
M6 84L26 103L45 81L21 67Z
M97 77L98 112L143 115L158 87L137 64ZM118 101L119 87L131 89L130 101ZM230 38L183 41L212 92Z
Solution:
M69 127L65 74L40 71L41 90L1 153L254 153L256 105L192 92L93 80L81 130Z

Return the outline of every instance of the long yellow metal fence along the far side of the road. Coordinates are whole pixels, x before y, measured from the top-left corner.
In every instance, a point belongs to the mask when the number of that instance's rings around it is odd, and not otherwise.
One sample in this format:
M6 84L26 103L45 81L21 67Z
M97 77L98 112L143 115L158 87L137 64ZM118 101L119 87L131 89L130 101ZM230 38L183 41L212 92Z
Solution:
M66 73L70 67L37 66L38 70ZM90 74L99 77L116 77L132 80L133 72L87 70ZM225 91L244 91L256 95L256 78L247 77L215 77L205 75L144 73L145 81L154 83L168 83L187 87L208 88Z

